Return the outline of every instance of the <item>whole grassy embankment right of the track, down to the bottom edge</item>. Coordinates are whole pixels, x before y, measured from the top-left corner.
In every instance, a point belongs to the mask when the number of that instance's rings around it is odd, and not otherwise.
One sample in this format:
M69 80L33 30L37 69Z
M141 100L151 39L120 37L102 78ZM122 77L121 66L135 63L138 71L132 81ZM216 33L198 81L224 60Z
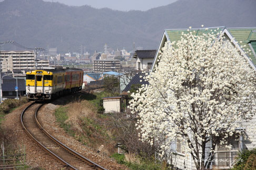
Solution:
M60 126L78 141L94 151L103 144L101 153L111 156L118 163L130 169L166 169L157 161L149 161L132 154L118 154L115 145L115 130L108 126L109 115L99 114L101 98L104 92L81 95L78 101L72 101L55 110L55 116Z

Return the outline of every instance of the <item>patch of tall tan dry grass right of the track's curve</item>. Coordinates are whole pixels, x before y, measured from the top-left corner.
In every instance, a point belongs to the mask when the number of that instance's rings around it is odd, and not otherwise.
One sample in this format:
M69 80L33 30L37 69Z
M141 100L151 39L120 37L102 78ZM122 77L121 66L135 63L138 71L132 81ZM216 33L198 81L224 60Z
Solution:
M100 114L92 102L87 100L75 101L65 105L67 119L65 124L70 124L70 130L78 141L97 151L103 144L101 153L111 155L116 152L115 142L110 139L111 131L104 126Z

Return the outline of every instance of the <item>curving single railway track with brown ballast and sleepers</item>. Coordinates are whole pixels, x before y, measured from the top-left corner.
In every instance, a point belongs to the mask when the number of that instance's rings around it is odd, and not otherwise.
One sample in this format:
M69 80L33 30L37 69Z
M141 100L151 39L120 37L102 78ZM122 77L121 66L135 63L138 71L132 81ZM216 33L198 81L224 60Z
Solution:
M25 132L47 153L69 169L104 169L71 150L46 132L37 120L37 112L44 104L31 103L21 114L21 124Z

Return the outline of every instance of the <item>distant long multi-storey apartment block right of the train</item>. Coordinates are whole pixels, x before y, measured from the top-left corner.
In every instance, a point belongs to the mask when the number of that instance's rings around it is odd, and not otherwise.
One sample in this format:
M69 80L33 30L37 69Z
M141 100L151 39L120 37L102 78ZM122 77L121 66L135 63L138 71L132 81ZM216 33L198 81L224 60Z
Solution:
M120 60L94 60L94 72L119 71L121 69Z

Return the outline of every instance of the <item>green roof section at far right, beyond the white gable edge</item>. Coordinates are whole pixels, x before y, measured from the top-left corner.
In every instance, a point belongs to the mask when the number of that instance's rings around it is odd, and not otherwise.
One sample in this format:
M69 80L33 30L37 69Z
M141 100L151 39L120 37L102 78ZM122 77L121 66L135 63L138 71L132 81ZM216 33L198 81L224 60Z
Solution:
M228 28L228 30L241 47L245 45L243 47L245 52L251 50L247 55L256 65L256 57L253 54L253 51L256 52L256 28Z

